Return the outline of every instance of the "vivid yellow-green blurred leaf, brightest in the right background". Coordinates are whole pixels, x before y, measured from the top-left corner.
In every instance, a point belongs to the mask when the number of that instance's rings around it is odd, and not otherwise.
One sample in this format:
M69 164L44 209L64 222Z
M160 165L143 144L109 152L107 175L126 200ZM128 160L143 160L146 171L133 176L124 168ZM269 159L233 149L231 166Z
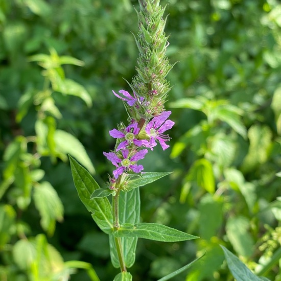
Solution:
M209 193L215 193L215 177L212 163L205 158L194 162L186 175L186 180L195 181L198 186Z

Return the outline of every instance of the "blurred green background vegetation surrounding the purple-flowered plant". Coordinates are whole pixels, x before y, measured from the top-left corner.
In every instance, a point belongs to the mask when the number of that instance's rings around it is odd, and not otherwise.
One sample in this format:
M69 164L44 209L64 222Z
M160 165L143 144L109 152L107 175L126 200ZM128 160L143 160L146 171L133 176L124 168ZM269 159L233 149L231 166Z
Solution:
M281 4L161 3L168 56L178 62L166 104L176 125L171 148L142 164L174 173L140 190L141 214L201 238L139 239L130 272L156 280L206 251L174 280L233 280L221 244L281 280ZM135 74L134 8L136 0L0 0L1 280L66 280L74 271L72 280L90 280L90 264L101 280L118 273L66 154L104 185L108 131L127 118L112 89L129 90L124 78Z

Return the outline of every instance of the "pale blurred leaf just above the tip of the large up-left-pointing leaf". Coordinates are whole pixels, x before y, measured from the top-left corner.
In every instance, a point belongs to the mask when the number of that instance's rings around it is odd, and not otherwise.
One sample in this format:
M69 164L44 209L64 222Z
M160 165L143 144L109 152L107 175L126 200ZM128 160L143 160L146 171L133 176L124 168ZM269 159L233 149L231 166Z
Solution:
M74 135L63 130L56 130L54 139L56 150L63 154L73 155L91 174L95 173L95 168L93 168L84 146Z

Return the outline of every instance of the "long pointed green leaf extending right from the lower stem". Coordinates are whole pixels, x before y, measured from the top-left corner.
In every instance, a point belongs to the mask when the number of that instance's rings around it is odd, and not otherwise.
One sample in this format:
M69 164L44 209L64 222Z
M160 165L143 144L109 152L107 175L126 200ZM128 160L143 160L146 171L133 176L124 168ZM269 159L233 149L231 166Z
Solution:
M144 222L134 225L125 223L113 234L115 237L138 237L162 242L177 242L199 238L166 225Z

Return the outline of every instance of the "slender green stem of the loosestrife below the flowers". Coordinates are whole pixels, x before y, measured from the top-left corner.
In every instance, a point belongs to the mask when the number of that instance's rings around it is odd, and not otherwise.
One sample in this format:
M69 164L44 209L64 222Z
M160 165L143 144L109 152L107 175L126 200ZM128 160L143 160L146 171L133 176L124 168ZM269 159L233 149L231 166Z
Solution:
M116 182L116 186L119 185L119 181ZM112 214L113 214L113 228L114 231L118 230L120 228L119 224L119 194L120 194L120 189L118 188L116 191L115 196L112 198ZM120 237L114 237L115 240L115 245L116 245L116 250L118 254L118 259L120 263L120 269L121 272L126 272L126 265L124 261L124 254L123 254L123 248L122 248L122 242Z

